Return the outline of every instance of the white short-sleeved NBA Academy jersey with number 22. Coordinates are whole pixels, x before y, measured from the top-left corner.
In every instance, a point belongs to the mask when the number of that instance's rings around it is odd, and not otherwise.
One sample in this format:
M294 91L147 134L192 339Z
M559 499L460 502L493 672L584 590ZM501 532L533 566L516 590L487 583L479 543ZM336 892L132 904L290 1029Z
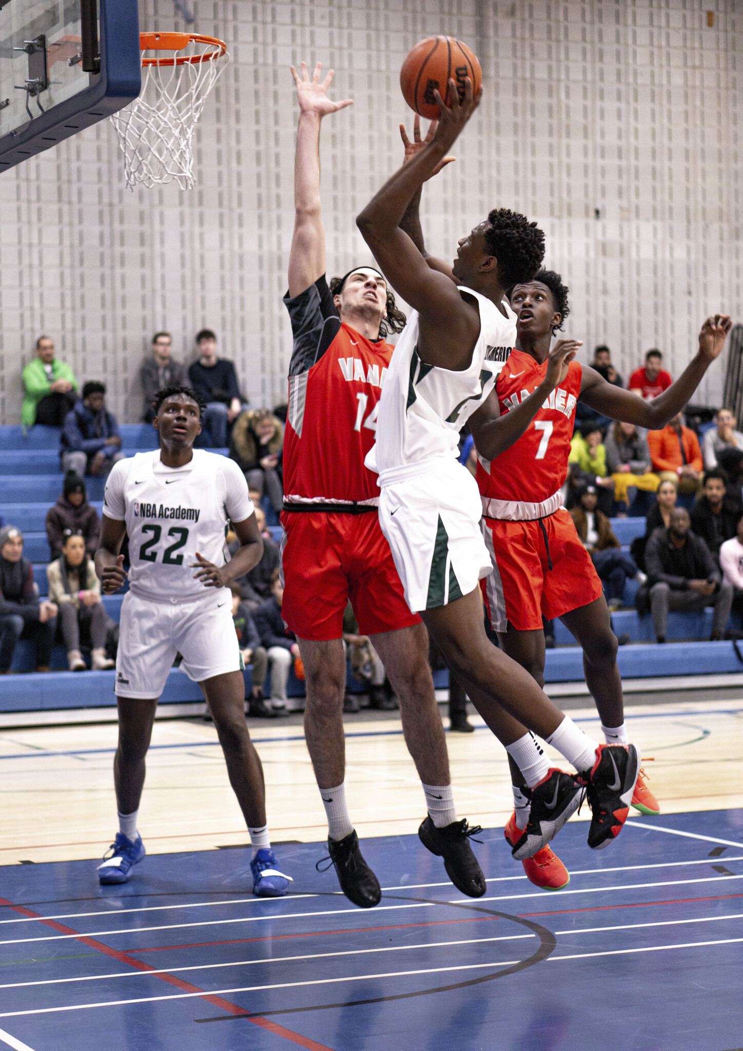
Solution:
M224 565L225 527L249 518L253 506L233 460L195 449L184 467L168 468L158 449L113 466L103 514L126 522L135 595L193 602L214 594L193 579L197 552Z

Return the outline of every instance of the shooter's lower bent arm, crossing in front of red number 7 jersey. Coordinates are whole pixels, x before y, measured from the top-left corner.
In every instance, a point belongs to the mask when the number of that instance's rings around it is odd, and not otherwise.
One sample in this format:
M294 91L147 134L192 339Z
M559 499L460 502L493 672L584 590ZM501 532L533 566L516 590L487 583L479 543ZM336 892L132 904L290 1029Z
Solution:
M502 416L498 394L494 390L480 408L470 416L470 430L475 448L483 459L495 459L514 441L518 441L542 405L556 387L567 376L567 365L573 360L582 343L560 339L550 351L549 365L541 384L515 409Z

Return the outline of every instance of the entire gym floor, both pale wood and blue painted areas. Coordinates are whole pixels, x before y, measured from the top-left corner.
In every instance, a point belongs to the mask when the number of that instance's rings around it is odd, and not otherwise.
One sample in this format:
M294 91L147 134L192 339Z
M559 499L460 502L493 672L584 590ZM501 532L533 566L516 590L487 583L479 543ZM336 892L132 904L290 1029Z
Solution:
M663 813L632 817L593 853L583 808L555 843L572 874L558 893L529 883L502 839L499 746L483 727L452 735L459 812L486 829L476 901L415 836L422 797L399 723L349 724L351 812L385 888L369 911L315 870L325 826L300 727L253 735L294 877L274 901L250 893L210 724L156 725L150 854L106 888L91 859L115 830L116 727L3 731L0 1048L740 1049L743 702L685 697L627 712Z

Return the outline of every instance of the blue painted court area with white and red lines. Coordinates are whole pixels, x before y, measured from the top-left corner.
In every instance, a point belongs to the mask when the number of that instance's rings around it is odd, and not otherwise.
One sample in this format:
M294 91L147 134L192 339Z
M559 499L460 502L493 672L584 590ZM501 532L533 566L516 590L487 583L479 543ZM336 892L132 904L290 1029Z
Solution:
M23 1051L729 1051L743 1044L743 809L632 818L538 891L499 830L460 897L416 837L364 843L372 910L277 848L292 894L254 899L249 851L147 858L123 887L88 861L3 869L0 1047Z

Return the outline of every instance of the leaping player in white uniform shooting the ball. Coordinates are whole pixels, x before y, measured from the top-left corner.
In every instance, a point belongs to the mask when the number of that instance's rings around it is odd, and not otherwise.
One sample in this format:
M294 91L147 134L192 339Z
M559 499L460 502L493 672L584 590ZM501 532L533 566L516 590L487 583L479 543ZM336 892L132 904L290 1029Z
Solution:
M438 91L435 97L437 126L424 142L406 141L403 167L356 221L389 284L414 308L392 355L376 447L369 454L369 465L379 471L379 522L408 602L532 789L530 820L514 856L522 860L540 850L578 808L584 787L593 812L589 845L599 848L626 819L637 749L589 739L489 641L478 580L492 564L479 530L479 493L454 458L457 433L468 418L484 401L489 412L493 400L497 407L495 377L516 336L505 289L534 276L544 235L523 215L493 210L461 239L450 268L426 253L419 228L414 236L406 232L406 217L410 223L417 212L422 184L440 169L479 101L469 79L461 100L450 81L451 109ZM521 436L574 356L575 345L556 348L536 391L503 416L496 409L489 433L503 448ZM529 730L554 745L577 776L551 768Z

